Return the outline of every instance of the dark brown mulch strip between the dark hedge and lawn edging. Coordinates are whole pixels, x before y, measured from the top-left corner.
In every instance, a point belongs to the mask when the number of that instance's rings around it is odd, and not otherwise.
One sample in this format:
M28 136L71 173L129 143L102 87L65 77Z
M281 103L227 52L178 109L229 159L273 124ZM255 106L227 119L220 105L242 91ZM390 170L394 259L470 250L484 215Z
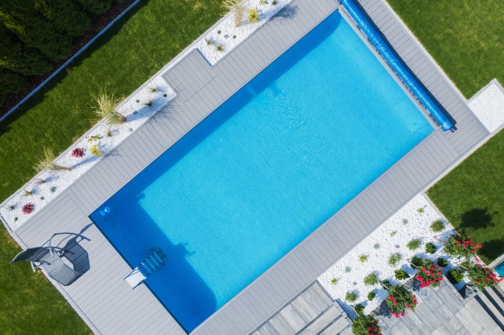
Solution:
M19 103L23 98L25 98L30 92L32 92L37 86L42 83L48 76L50 76L56 69L58 69L63 63L65 63L70 57L72 57L77 51L79 51L86 43L88 43L93 37L95 37L100 31L103 30L110 22L112 22L119 14L124 12L135 0L123 0L120 4L113 2L110 9L104 13L91 15L91 27L87 30L84 35L75 37L72 41L72 48L69 51L68 57L62 59L61 61L54 64L52 69L43 75L31 75L27 76L28 85L25 90L10 94L6 97L4 105L0 106L0 117L5 115L11 110L17 103Z

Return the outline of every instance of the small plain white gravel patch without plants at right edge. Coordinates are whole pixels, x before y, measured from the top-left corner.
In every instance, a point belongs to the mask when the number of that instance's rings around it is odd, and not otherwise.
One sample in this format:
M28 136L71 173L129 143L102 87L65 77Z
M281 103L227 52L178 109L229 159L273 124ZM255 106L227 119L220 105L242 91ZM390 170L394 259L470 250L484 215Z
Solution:
M489 132L504 124L504 89L497 80L490 81L467 105Z

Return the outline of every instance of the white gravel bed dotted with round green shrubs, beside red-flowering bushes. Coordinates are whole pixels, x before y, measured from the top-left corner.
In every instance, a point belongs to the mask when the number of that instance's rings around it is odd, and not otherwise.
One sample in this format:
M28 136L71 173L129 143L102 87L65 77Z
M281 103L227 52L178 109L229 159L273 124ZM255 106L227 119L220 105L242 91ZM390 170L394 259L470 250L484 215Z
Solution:
M418 212L419 208L423 208L423 213ZM454 266L443 252L442 240L453 230L449 225L446 225L443 232L434 233L429 226L435 220L443 220L443 218L429 204L424 194L417 195L322 274L318 279L319 282L338 301L347 314L353 318L356 316L355 312L351 305L345 301L347 292L352 291L358 294L357 300L352 305L358 303L364 305L366 313L379 306L387 297L387 291L380 285L364 285L363 279L370 273L376 273L380 280L388 279L392 284L396 284L398 281L395 279L394 270L402 269L412 278L416 271L409 267L409 259L418 255L434 262L438 257L448 260L449 265L443 271L446 274ZM392 232L395 232L393 237L391 237ZM439 236L440 234L442 236ZM439 240L434 236L437 236ZM422 245L416 250L409 250L406 244L416 238L422 240ZM425 244L428 242L438 246L435 254L425 253ZM380 245L379 248L375 247L376 243ZM402 256L401 262L396 267L388 264L390 255L394 253L399 253ZM364 263L359 262L360 255L367 255L367 261ZM347 267L350 269L346 269ZM347 272L348 270L350 271ZM331 283L333 278L338 281L336 285ZM456 285L456 288L459 289L464 284L464 281L460 282ZM368 301L367 294L373 290L376 295L372 301Z

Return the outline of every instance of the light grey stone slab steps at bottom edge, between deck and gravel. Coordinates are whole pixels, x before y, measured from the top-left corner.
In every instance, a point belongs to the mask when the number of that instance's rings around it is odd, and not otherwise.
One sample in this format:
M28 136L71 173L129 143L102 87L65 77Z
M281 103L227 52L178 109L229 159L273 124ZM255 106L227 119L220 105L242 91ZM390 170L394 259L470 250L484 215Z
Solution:
M350 321L346 313L315 282L256 329L253 335L334 335L347 327L350 327Z

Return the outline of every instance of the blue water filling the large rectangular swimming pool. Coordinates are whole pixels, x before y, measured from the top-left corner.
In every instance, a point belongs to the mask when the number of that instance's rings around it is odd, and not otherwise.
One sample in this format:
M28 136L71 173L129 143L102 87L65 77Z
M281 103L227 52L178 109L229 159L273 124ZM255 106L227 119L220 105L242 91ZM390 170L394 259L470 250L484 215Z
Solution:
M432 130L335 12L91 217L190 331Z

